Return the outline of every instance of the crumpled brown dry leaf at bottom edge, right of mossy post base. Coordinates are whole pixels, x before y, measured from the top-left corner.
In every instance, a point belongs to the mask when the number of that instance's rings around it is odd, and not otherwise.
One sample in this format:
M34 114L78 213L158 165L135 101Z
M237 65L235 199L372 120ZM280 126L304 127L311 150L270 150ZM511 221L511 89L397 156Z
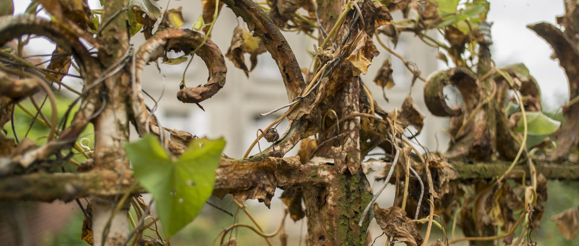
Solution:
M423 243L416 221L406 217L406 212L402 208L395 206L380 208L378 203L374 203L374 213L376 223L386 236L393 237L393 241L401 241L408 246Z

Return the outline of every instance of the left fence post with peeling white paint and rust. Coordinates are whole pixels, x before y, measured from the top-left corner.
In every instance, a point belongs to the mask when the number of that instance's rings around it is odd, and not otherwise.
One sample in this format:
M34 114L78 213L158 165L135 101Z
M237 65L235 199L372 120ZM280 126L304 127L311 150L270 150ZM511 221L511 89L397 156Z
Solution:
M125 66L120 62L123 54L129 49L129 30L126 15L114 15L116 10L125 6L125 1L105 1L102 19L110 21L97 37L103 44L98 50L98 59L102 67L111 65ZM130 59L129 59L130 61ZM120 63L119 63L120 62ZM94 132L94 171L113 170L122 177L128 167L123 144L129 139L129 117L131 93L129 69L119 69L115 75L104 80L102 84L90 87L90 90L105 92L101 95L104 109L93 120ZM118 202L117 197L93 197L93 240L96 246L121 245L129 237L129 218L127 213L113 213ZM127 204L120 206L128 207ZM110 223L108 224L108 222ZM107 225L108 224L108 225ZM105 231L107 230L107 231ZM105 237L105 238L102 238Z

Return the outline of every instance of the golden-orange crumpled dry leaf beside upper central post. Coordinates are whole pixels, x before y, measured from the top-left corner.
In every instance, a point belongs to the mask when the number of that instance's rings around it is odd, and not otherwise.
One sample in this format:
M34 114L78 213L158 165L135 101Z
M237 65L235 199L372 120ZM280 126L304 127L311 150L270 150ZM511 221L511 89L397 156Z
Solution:
M348 57L344 61L350 62L354 66L352 76L358 76L360 73L366 74L368 72L372 58L380 52L376 49L372 37L368 33L358 32L354 40L348 44L345 54Z

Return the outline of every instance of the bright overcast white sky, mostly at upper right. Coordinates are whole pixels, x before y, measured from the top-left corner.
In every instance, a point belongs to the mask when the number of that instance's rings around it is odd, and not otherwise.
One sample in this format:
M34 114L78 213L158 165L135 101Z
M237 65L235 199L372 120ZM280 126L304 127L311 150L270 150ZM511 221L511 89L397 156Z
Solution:
M14 1L15 13L23 13L29 1ZM98 0L89 0L91 6ZM569 88L559 62L552 60L552 49L526 25L541 21L555 23L562 15L563 1L503 0L490 1L488 20L493 21L491 46L497 66L523 62L537 79L543 93L545 109L556 110L569 100ZM33 39L29 53L51 53L54 46L42 39ZM68 76L67 76L68 77Z

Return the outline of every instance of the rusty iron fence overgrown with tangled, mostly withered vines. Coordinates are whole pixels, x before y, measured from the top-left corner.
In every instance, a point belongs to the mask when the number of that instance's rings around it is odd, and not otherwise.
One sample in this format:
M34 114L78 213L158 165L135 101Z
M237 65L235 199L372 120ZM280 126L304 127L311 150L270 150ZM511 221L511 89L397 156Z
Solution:
M569 80L561 122L542 113L540 88L525 65L494 64L486 0L201 0L203 14L192 29L181 28L181 8L163 11L153 0L101 0L102 9L90 9L87 0L38 0L25 14L0 10L0 200L76 200L85 214L79 230L91 245L169 245L168 238L192 221L210 195L233 200L255 223L223 229L214 244L220 238L219 245L237 245L226 235L246 227L269 245L277 235L286 245L283 221L267 234L243 204L257 199L269 207L277 188L284 190L284 219L307 217L307 245L370 245L372 218L391 244L424 246L440 228L442 237L432 245L534 245L530 235L540 227L547 180L579 179L579 9L574 1L564 2L558 25L528 26L551 45ZM234 29L225 55L211 41L219 14L230 14L223 5L245 23ZM41 8L51 20L36 16ZM395 11L399 20L390 14ZM131 46L130 37L141 32L146 42ZM291 32L316 40L309 68L298 64L285 39ZM435 47L450 68L421 74L390 47L404 32ZM46 68L24 53L37 36L56 43ZM383 90L395 86L391 60L377 61L374 40L401 59L412 73L412 87L423 85L428 110L449 118L451 141L444 153L417 150L423 148L415 137L424 115L410 95L399 109L387 111L360 79L372 63L382 62L373 82ZM184 55L169 58L171 51ZM155 106L145 103L142 83L153 81L141 72L159 58L171 65L190 62L193 55L204 61L207 84L187 87L184 75L176 95L203 109L226 86L226 59L250 76L265 52L278 65L288 105L262 114L285 110L260 130L241 159L222 153L223 140L163 127ZM250 68L244 54L250 54ZM82 90L62 82L74 76L71 68L80 74ZM63 109L57 107L62 87L75 95L64 114L57 112ZM449 105L448 87L463 99L456 106ZM27 109L31 105L34 110ZM17 133L18 117L49 133L43 141ZM284 119L290 122L285 132L275 127ZM94 144L85 146L89 124ZM131 128L140 140L129 143ZM529 135L545 137L532 143ZM272 145L263 151L258 146L260 152L249 156L264 137ZM293 148L298 155L286 156ZM376 149L384 158L368 156ZM383 181L376 183L377 193L375 181ZM375 202L387 184L396 188L389 208ZM141 193L152 193L156 214ZM90 203L83 205L84 197ZM138 218L126 213L131 207ZM577 230L561 228L577 226L568 223L577 222L576 210L554 218L568 240ZM157 221L164 240L159 232L144 237ZM456 228L465 237L456 238Z

